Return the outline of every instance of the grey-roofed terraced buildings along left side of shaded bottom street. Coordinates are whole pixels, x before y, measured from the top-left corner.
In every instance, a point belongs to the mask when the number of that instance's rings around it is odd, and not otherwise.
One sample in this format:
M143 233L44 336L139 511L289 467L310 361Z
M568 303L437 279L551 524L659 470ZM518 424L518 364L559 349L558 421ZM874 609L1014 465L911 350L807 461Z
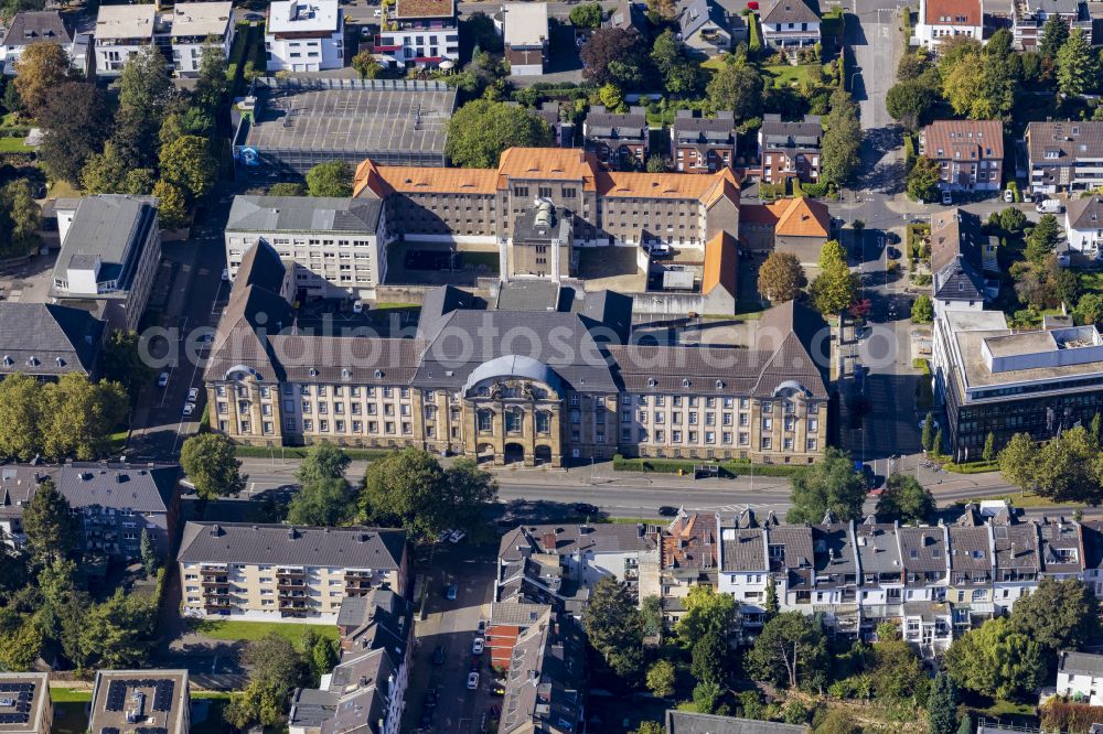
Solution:
M413 606L390 590L350 596L338 614L341 660L318 689L298 689L290 732L398 734L414 648Z

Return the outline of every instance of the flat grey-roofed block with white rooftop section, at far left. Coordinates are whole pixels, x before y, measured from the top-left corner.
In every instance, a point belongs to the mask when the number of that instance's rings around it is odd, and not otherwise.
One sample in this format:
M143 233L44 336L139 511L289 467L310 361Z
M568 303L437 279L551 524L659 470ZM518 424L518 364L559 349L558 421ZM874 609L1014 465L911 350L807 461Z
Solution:
M103 9L113 7L121 6ZM156 198L126 194L57 199L62 249L51 298L87 310L111 328L136 331L161 265L157 206Z

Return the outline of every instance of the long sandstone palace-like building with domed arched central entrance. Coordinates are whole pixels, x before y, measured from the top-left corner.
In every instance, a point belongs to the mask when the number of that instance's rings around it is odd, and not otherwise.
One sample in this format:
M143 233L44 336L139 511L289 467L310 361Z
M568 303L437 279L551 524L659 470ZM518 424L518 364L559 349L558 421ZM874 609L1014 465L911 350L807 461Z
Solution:
M415 338L314 336L292 330L275 250L254 249L204 374L211 428L235 441L555 466L614 452L806 464L825 447L828 332L803 304L767 312L749 348L665 347L629 344L629 296L501 311L446 287L426 295ZM527 346L463 336L515 327L536 330Z

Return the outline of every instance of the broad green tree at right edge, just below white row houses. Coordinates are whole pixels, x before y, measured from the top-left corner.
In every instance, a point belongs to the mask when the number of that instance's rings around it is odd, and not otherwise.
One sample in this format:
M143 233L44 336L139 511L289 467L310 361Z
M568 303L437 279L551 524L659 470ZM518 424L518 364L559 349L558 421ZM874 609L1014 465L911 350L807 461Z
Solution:
M1015 602L1011 627L1054 654L1077 650L1099 634L1099 602L1079 579L1042 579Z

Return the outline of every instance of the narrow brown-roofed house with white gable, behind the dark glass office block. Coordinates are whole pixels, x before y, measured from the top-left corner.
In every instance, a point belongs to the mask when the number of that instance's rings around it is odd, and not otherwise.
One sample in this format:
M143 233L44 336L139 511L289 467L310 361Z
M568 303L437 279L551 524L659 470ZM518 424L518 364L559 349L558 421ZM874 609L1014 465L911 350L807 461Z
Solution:
M995 241L993 241L995 240ZM981 218L960 208L931 215L931 300L934 313L981 311L988 298L998 293L998 284L987 285L983 252L990 250L988 268L999 272L995 260L998 239L981 230Z

